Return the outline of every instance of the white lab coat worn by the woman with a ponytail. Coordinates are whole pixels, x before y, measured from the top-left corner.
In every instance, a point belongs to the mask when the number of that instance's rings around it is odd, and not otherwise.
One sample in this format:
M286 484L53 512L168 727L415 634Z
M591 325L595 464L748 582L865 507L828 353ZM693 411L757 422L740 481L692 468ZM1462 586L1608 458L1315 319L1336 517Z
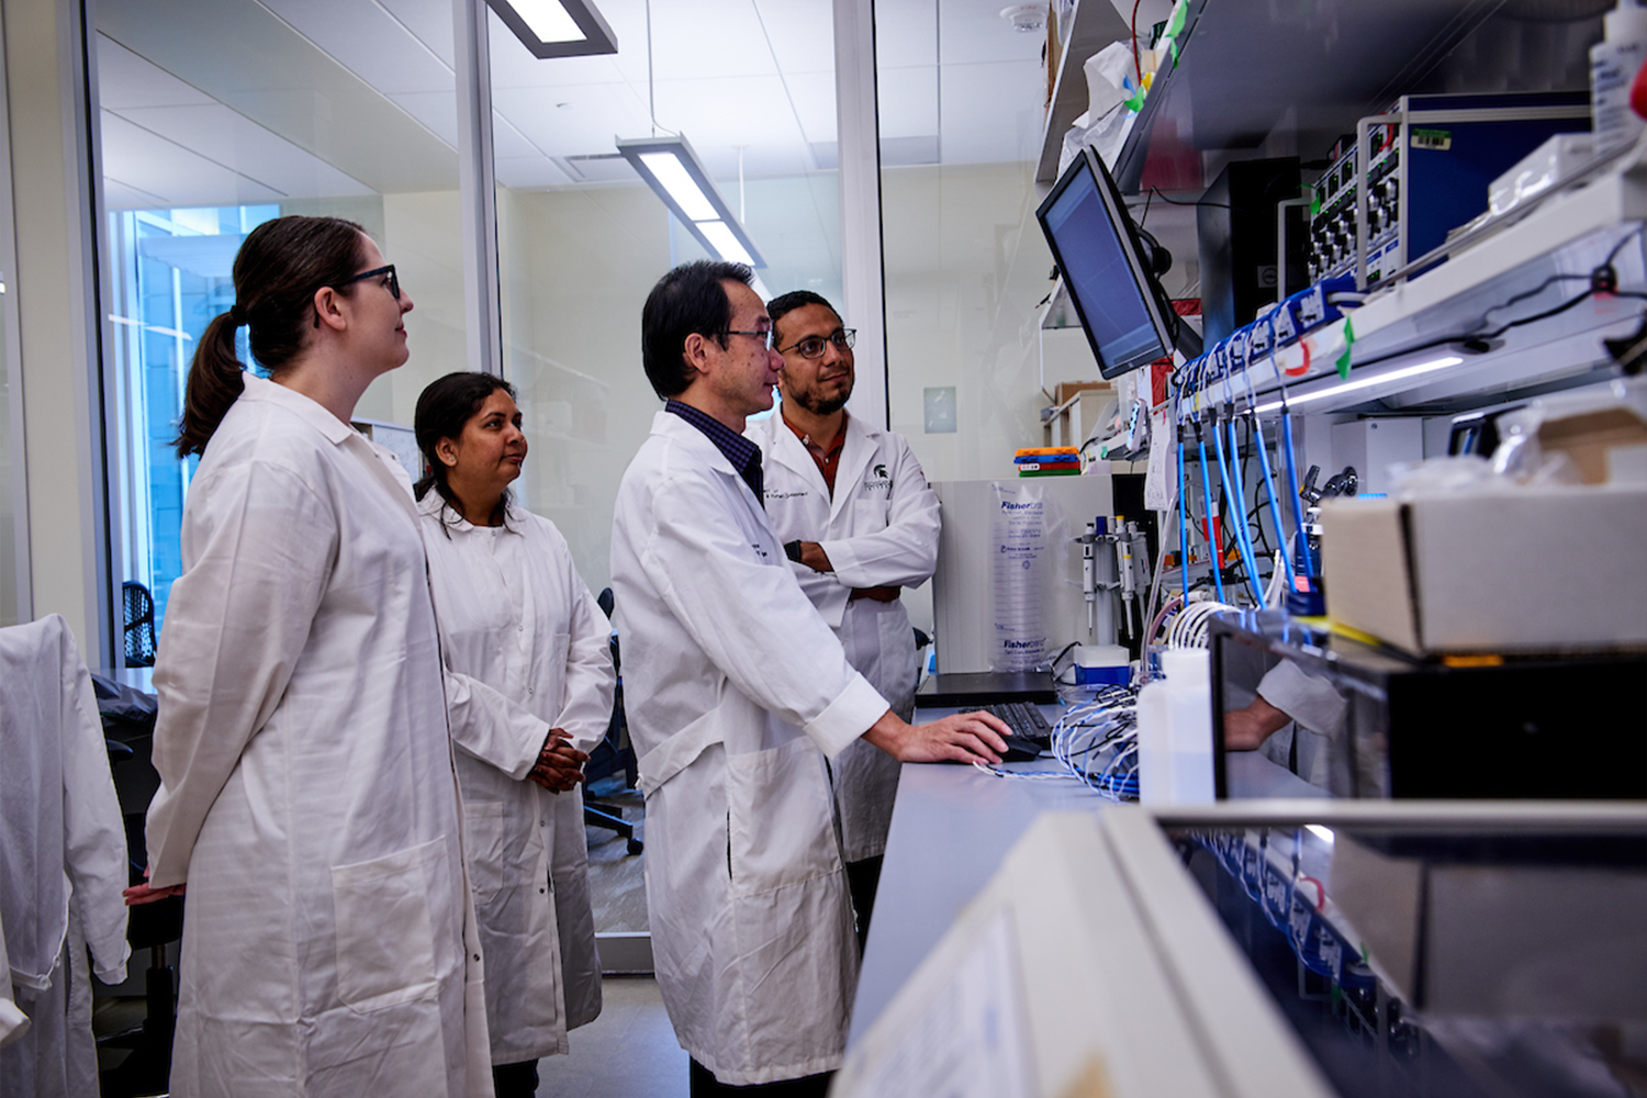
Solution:
M491 1095L410 484L245 375L183 512L152 884L188 881L171 1093Z

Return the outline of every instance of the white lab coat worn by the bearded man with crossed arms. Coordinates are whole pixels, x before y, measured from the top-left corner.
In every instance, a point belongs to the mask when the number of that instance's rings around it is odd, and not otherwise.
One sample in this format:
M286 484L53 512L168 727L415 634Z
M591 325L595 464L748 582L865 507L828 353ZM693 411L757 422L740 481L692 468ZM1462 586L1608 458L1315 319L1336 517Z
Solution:
M766 517L781 542L817 542L835 571L791 563L847 660L906 721L916 708L916 640L901 601L848 601L853 588L917 588L937 568L937 494L903 435L847 416L830 497L824 474L781 413L744 431L763 454ZM886 851L903 764L858 741L830 761L847 861Z

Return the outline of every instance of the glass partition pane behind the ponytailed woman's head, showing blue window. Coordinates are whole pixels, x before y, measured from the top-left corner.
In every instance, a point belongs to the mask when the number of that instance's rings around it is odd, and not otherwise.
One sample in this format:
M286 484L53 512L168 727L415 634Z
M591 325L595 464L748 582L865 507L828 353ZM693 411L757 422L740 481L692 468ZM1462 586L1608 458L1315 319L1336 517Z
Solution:
M109 2L96 16L112 540L158 627L194 466L171 448L183 384L234 303L247 232L348 217L397 265L412 357L357 416L410 426L423 385L464 365L453 20L417 0L180 0L165 20Z

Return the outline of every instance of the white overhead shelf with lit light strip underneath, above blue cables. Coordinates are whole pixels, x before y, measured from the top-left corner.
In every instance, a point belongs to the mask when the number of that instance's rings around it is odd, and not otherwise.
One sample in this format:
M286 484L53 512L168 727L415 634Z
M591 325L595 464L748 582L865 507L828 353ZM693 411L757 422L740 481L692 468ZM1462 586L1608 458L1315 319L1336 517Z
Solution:
M1551 194L1519 224L1441 267L1375 295L1346 321L1212 382L1191 407L1234 400L1245 408L1252 395L1268 410L1285 384L1291 405L1309 413L1463 410L1611 369L1601 341L1640 328L1639 300L1594 295L1509 328L1484 351L1467 349L1464 337L1578 298L1589 272L1609 257L1621 290L1647 290L1644 221L1647 160L1637 153L1583 186ZM1346 326L1354 334L1352 369L1339 377Z

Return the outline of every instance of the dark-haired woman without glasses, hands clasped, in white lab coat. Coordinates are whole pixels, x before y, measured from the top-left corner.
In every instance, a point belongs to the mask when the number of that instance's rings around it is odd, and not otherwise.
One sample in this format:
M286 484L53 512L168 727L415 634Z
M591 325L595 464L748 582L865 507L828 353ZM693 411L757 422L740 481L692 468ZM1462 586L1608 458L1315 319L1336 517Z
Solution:
M611 718L609 626L560 530L509 500L527 451L514 390L450 374L415 426L492 1072L512 1098L601 1009L578 779Z

